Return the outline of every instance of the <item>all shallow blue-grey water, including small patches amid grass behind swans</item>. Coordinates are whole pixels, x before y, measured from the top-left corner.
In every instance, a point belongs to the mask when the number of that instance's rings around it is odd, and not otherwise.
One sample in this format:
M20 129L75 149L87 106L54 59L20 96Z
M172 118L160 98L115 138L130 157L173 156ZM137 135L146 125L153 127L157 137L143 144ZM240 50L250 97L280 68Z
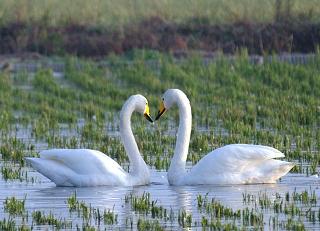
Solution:
M77 127L84 126L84 121L79 119ZM77 132L70 129L67 125L60 124L61 136L77 136ZM108 127L106 125L106 127ZM172 127L174 127L172 125ZM199 129L201 130L201 129ZM176 128L168 132L171 135L175 135ZM203 131L206 132L206 131ZM48 144L45 142L36 141L31 136L31 127L16 125L10 133L11 137L17 137L24 143L31 143L35 146L37 151L46 149ZM112 131L112 135L118 136L118 131ZM4 164L4 161L0 161L0 167ZM5 163L6 166L10 166L10 162ZM307 164L306 164L307 165ZM127 165L124 165L126 168ZM191 164L188 164L188 168ZM305 166L304 166L305 167ZM220 202L223 206L232 208L233 210L254 208L254 203L246 204L243 201L244 194L251 194L256 197L255 202L258 204L259 195L265 193L271 201L276 199L276 194L280 194L282 198L285 198L286 193L292 194L294 191L301 193L308 191L309 193L315 192L317 200L320 199L320 189L318 187L320 179L316 177L308 177L304 174L292 174L289 173L284 176L277 184L256 184L256 185L200 185L200 186L170 186L167 182L166 172L151 170L151 184L146 186L137 187L56 187L54 183L42 176L40 173L33 170L31 167L26 167L22 170L27 173L28 179L34 179L32 181L8 180L0 179L0 220L4 218L8 219L10 216L4 211L4 201L9 197L16 197L20 200L26 198L25 208L28 211L28 221L22 222L21 217L15 217L16 224L25 223L32 226L35 229L53 229L50 225L35 225L32 224L32 212L42 211L45 214L50 212L55 215L56 218L67 221L72 221L72 227L70 229L76 229L77 225L81 228L84 224L84 220L77 213L70 213L67 199L76 192L78 201L83 201L87 205L91 205L92 208L104 210L113 210L118 215L118 222L113 225L104 225L103 222L99 225L94 218L91 218L88 222L90 226L94 226L98 229L127 229L137 228L137 221L139 218L151 219L150 214L140 214L131 208L130 203L125 202L125 198L133 195L141 197L144 193L150 193L151 200L156 201L157 206L162 206L169 211L173 211L174 220L157 219L160 225L165 229L176 230L182 229L178 223L178 214L180 211L185 210L188 214L192 214L192 229L201 230L201 218L202 216L208 216L199 210L197 207L197 196L207 196L209 201L214 198ZM313 211L320 209L319 202L316 204L303 204L296 202L295 205L299 207L303 213L312 208ZM272 217L277 216L279 221L285 222L290 216L283 213L276 215L272 208L258 209L257 213L263 213L264 227L265 229L272 229L272 224L269 224ZM319 210L320 211L320 210ZM294 219L298 219L297 216L293 216ZM222 218L222 223L224 222ZM319 220L313 222L307 221L302 216L299 219L303 221L305 228L309 230L318 230L320 228ZM197 222L196 224L194 222ZM225 220L225 222L232 222L232 220ZM241 220L235 220L235 223L241 227ZM248 228L248 227L247 227ZM251 227L252 228L252 227ZM250 229L250 227L249 227ZM282 228L279 228L282 229Z

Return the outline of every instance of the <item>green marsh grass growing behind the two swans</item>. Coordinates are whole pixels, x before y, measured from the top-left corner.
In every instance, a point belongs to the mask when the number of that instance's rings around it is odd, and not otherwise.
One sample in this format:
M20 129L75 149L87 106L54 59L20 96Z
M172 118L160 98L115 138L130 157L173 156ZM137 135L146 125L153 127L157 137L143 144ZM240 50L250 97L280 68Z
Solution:
M157 68L147 64L150 57L158 63ZM317 171L319 59L309 65L253 65L244 53L233 64L221 56L217 62L204 65L200 57L176 63L168 55L144 51L129 58L110 57L108 61L109 66L101 67L89 60L66 58L64 78L58 80L52 71L40 70L25 81L31 89L21 88L19 76L25 79L23 75L10 78L3 73L0 80L6 87L0 91L2 158L24 166L23 157L35 155L39 151L35 144L45 142L48 147L98 149L124 163L124 148L119 137L112 135L119 129L123 102L132 94L143 94L155 115L161 94L167 88L180 88L192 105L188 156L192 163L225 144L256 143L280 149L288 160L310 163L295 168L297 172ZM167 169L170 163L175 137L165 132L177 128L177 109L165 117L155 126L137 113L132 118L143 157L157 169ZM29 126L29 136L35 143L8 137L15 124ZM61 134L62 124L72 135Z

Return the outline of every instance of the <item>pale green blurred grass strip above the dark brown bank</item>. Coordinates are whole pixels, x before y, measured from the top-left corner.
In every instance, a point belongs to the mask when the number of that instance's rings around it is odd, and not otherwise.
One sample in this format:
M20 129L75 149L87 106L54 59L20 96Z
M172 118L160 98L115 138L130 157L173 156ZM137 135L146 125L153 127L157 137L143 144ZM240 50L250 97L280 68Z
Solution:
M228 23L238 20L270 22L275 18L275 0L189 0L189 1L57 1L30 0L0 3L0 21L41 22L44 25L97 25L122 27L139 22L150 16L160 16L169 21L184 22L194 17L207 17L213 23ZM304 15L319 21L320 6L317 0L282 0L282 11Z

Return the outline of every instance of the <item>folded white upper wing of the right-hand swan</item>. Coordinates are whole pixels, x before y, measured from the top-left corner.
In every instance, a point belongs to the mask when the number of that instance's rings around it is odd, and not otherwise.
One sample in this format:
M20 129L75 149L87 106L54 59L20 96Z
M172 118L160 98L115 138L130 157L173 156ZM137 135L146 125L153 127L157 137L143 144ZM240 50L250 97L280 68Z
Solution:
M204 156L190 171L208 174L240 173L265 160L284 157L279 150L262 145L230 144Z

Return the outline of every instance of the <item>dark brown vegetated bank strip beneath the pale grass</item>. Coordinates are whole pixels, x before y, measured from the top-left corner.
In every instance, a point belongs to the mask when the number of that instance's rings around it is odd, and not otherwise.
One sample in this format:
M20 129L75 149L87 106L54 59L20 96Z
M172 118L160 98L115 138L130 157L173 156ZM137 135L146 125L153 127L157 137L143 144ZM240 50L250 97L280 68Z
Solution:
M36 52L98 58L134 49L235 54L246 48L250 54L314 53L320 44L319 31L320 23L308 20L211 24L208 18L192 18L176 24L152 17L120 29L11 23L0 27L0 53Z

